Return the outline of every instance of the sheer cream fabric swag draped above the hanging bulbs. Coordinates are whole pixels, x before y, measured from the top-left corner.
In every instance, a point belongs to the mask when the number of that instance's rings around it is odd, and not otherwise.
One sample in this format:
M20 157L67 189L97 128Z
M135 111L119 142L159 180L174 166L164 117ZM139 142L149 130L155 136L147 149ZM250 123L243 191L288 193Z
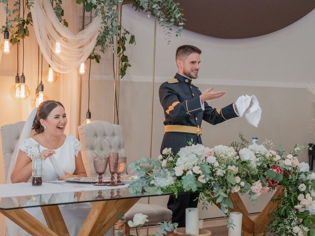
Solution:
M31 11L40 51L55 71L70 72L89 57L101 26L100 17L95 17L86 29L74 34L59 22L50 0L34 1ZM56 46L60 50L59 54L56 54Z

